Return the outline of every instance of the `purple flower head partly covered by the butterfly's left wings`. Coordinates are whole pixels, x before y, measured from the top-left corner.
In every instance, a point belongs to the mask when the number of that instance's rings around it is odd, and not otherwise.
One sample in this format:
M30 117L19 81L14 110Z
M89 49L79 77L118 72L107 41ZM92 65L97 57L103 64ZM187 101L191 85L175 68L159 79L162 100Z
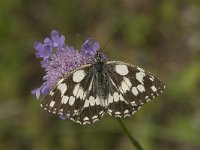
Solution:
M51 32L51 38L46 38L44 43L36 42L36 57L42 58L40 64L45 69L44 83L41 87L32 91L32 94L39 99L49 92L52 86L68 72L83 65L92 63L95 54L100 48L99 43L89 38L82 45L80 52L74 47L65 44L65 37L59 35L55 30ZM107 57L101 53L103 59Z

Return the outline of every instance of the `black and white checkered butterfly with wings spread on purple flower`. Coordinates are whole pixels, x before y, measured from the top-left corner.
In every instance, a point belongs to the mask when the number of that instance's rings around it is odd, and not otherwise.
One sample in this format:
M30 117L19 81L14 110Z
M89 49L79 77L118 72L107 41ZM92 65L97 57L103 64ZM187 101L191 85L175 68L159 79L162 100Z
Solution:
M44 96L41 107L85 125L99 121L107 112L126 118L154 99L165 85L144 69L121 61L95 61L61 78Z

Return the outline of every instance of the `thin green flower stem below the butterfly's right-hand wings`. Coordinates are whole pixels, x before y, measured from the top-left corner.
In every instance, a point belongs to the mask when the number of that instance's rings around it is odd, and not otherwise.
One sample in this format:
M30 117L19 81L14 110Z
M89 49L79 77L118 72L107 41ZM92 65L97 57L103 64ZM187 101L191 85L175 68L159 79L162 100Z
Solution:
M124 125L122 119L120 118L116 118L119 125L121 126L122 130L124 131L124 133L127 135L127 137L129 138L129 140L131 141L131 143L133 144L133 146L137 149L137 150L144 150L142 148L142 146L139 144L139 142L133 138L133 136L130 134L130 132L128 131L128 129L126 128L126 126Z

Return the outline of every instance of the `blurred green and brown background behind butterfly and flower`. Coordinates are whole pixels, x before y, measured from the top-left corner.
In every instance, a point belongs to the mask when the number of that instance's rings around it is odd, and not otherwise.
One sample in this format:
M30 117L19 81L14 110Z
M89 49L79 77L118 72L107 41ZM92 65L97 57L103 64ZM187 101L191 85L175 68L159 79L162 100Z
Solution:
M80 126L42 110L31 90L44 71L33 43L56 29L113 60L151 71L164 94L124 123L145 150L200 149L200 1L0 0L0 150L132 150L115 118ZM113 34L115 33L115 34Z

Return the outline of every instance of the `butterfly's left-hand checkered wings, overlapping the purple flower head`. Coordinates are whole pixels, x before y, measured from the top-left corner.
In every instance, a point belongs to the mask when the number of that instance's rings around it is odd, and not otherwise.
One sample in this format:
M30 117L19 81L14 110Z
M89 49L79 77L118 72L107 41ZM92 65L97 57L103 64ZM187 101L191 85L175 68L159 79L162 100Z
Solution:
M66 116L79 124L98 121L105 112L95 89L91 64L83 65L61 79L42 99L45 110Z

